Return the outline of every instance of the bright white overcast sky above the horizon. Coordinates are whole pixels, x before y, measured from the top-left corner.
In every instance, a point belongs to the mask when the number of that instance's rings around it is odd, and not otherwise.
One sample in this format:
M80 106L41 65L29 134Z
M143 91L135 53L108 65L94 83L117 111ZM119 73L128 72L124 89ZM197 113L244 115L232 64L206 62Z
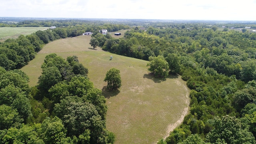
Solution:
M0 17L256 20L256 0L0 0Z

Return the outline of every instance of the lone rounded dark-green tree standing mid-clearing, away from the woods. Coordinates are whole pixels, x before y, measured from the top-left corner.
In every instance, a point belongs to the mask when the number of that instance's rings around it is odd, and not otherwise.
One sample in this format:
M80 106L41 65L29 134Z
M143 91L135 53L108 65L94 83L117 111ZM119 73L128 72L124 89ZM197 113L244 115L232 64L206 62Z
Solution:
M111 68L110 70L108 70L104 82L108 82L107 88L110 90L117 90L118 88L120 88L122 86L120 70L116 68Z

